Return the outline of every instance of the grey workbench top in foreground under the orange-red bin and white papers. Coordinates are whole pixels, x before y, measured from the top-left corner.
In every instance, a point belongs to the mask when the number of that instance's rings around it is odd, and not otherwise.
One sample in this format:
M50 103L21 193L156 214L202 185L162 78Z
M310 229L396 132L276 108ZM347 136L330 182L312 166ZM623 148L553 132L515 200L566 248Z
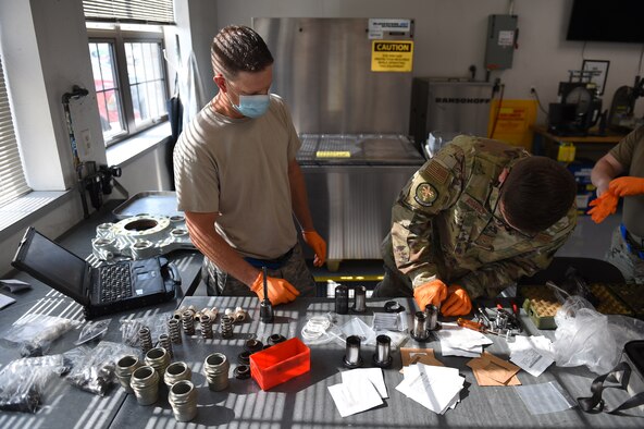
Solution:
M413 308L411 299L399 301L407 308ZM359 317L369 321L373 310L382 309L384 301L368 301L368 311ZM174 346L173 360L184 360L193 370L193 381L198 390L198 414L189 424L176 422L168 403L164 390L160 400L151 406L139 406L134 395L126 395L115 389L107 397L64 387L58 396L48 401L36 415L1 413L0 426L12 428L170 428L170 427L271 427L271 428L335 428L351 426L358 428L426 428L426 427L482 427L482 428L641 428L644 414L630 410L634 416L608 414L584 414L579 408L566 412L530 415L518 394L510 387L486 387L476 384L471 369L466 366L469 358L444 357L438 342L428 343L436 352L436 357L446 366L458 368L466 377L460 403L445 415L429 412L414 401L395 390L403 376L399 373L400 355L393 352L393 366L384 369L384 378L389 397L384 405L347 418L342 418L327 391L327 387L342 382L340 372L347 370L342 361L345 350L336 344L311 346L310 372L280 384L268 392L261 391L253 380L237 380L233 377L236 356L243 352L244 342L258 338L265 342L268 335L280 333L292 338L299 335L307 317L333 310L334 304L324 298L301 298L295 303L276 307L273 324L258 321L258 299L250 297L206 297L187 296L182 305L197 308L216 306L220 309L242 306L249 311L249 319L235 324L233 339L223 340L215 333L212 340L198 335L186 338ZM349 320L354 315L338 316L338 323ZM529 329L529 319L524 319ZM199 331L197 331L199 333ZM552 334L552 331L549 332ZM111 335L114 335L112 327ZM504 339L493 336L494 344L486 351L507 357L509 351ZM70 339L62 345L70 345ZM409 340L406 346L425 346ZM202 375L202 363L213 352L224 353L231 360L230 387L222 392L208 389ZM370 367L373 348L362 347L364 367ZM4 359L4 358L3 358ZM585 368L550 367L538 378L524 371L518 373L522 384L558 382L572 397L586 396L596 375ZM63 382L64 383L64 382ZM639 416L639 417L637 417ZM9 425L9 426L7 426Z

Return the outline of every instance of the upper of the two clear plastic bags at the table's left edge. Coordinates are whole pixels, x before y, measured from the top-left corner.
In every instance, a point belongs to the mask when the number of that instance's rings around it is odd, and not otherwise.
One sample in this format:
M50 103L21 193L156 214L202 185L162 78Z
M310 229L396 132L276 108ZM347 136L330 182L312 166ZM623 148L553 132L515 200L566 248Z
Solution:
M42 356L54 340L79 323L62 317L27 315L2 335L2 342L20 347L23 357Z

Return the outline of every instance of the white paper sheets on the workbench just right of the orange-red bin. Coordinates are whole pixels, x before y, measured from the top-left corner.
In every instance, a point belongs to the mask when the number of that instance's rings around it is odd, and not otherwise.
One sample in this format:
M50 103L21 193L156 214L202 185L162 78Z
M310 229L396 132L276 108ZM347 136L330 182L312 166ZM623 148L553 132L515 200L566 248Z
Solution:
M375 390L371 381L366 379L356 379L351 383L330 385L329 392L339 415L343 417L371 409L383 403L377 390Z

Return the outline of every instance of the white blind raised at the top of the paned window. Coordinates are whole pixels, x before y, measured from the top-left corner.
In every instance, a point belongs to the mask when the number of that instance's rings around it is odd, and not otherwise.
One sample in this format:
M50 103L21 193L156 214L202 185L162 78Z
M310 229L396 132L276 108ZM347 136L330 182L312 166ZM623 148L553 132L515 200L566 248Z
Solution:
M174 24L172 0L83 0L86 21Z

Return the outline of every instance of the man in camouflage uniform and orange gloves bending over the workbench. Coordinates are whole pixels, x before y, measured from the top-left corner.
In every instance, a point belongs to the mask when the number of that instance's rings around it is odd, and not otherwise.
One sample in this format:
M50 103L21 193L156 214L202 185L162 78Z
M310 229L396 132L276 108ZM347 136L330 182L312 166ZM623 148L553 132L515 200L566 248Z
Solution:
M456 137L395 203L373 296L413 296L420 308L468 314L470 298L496 296L550 263L574 229L575 193L573 176L549 158Z

